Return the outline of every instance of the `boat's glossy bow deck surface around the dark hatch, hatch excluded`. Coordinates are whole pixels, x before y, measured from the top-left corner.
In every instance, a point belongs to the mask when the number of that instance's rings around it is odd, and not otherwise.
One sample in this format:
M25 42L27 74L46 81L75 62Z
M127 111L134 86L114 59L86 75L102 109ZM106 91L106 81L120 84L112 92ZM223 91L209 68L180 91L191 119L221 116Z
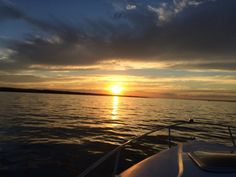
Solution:
M235 148L201 141L179 144L127 169L118 177L236 177L236 173L216 173L201 169L189 157L193 151L232 152Z

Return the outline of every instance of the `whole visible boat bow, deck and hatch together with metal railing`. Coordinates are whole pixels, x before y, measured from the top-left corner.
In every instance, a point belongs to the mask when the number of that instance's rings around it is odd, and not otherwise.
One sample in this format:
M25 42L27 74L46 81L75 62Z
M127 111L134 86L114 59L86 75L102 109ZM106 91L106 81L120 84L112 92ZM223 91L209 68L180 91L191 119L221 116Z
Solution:
M234 126L207 123L212 126L226 127L232 143L230 146L228 144L192 139L191 141L178 143L176 146L171 147L171 130L183 124L194 123L205 124L191 119L169 126L158 127L143 135L136 136L104 155L78 177L88 176L91 171L112 155L116 155L114 171L111 174L114 177L236 177L236 145L232 133L232 129L236 129ZM123 148L131 142L138 141L149 134L163 129L168 129L168 149L154 154L117 174L120 151Z

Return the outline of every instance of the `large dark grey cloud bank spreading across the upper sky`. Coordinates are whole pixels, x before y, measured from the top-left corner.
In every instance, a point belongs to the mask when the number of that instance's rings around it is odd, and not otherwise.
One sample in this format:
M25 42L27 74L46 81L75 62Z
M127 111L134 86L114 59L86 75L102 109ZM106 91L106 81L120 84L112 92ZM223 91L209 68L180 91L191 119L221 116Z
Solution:
M32 18L0 1L0 19L25 20L48 33L11 42L8 47L15 51L10 56L15 62L1 63L0 68L93 65L119 59L178 61L185 64L175 67L235 70L236 1L174 2L137 5L116 12L119 15L113 21L87 19L76 27Z

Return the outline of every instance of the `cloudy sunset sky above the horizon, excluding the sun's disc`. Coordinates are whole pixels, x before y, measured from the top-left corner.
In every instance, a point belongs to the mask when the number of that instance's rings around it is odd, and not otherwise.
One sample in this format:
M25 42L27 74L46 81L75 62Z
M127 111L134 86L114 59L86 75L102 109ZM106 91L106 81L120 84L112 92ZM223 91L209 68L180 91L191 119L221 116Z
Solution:
M0 87L236 100L235 0L0 0Z

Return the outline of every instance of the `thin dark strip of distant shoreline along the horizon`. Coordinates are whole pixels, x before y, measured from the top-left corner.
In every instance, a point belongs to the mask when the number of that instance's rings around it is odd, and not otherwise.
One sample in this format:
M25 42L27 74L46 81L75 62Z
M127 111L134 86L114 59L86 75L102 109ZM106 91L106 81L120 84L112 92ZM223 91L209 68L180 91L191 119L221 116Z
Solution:
M159 98L159 99L177 99L177 100L196 100L196 101L218 101L218 102L233 102L236 100L214 100L214 99L201 99L201 98L181 98L181 97L145 97L145 96L132 96L132 95L112 95L103 93L89 93L89 92L76 92L65 90L50 90L50 89L25 89L13 87L0 87L0 92L15 92L15 93L38 93L38 94L64 94L64 95L90 95L90 96L119 96L131 98Z

